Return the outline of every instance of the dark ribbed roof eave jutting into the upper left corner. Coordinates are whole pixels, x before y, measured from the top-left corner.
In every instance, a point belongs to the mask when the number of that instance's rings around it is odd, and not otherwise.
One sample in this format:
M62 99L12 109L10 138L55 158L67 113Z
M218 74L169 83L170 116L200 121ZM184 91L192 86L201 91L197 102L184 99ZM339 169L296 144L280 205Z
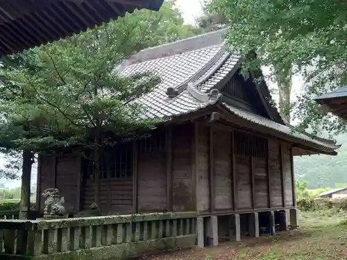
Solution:
M0 0L0 55L30 49L163 0Z

